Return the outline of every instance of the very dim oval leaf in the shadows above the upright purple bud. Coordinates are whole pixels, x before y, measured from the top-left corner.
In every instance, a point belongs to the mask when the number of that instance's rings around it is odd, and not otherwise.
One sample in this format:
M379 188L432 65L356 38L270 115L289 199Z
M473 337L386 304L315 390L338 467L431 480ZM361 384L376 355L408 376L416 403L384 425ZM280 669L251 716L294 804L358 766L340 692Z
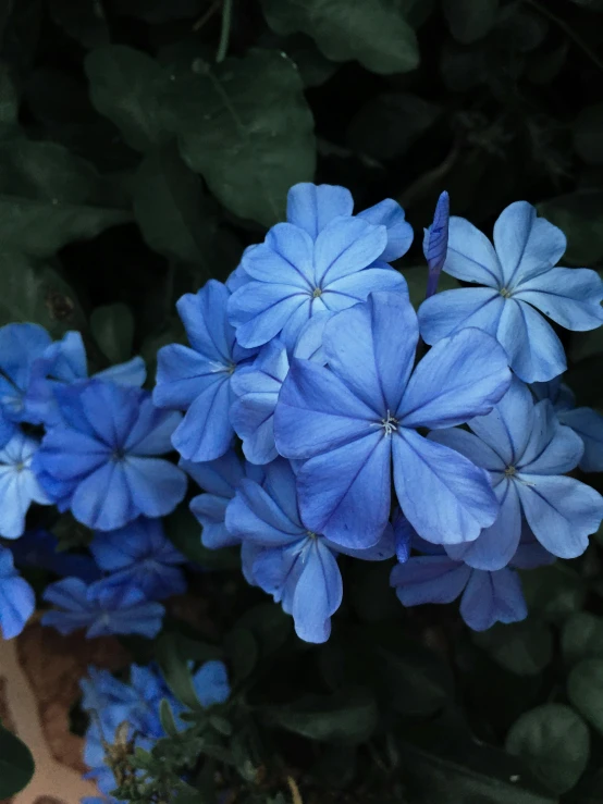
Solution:
M379 161L404 153L438 120L441 108L409 92L377 95L356 113L347 140Z

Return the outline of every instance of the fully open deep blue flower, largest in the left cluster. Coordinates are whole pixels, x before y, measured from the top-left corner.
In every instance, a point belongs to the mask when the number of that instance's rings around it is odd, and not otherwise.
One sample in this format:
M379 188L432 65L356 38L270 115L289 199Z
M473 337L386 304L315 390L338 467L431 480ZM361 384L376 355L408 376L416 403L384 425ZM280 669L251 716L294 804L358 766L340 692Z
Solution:
M34 469L61 509L109 531L176 507L186 475L156 456L172 450L179 413L158 410L144 391L99 380L56 388L54 395L63 421L45 435Z

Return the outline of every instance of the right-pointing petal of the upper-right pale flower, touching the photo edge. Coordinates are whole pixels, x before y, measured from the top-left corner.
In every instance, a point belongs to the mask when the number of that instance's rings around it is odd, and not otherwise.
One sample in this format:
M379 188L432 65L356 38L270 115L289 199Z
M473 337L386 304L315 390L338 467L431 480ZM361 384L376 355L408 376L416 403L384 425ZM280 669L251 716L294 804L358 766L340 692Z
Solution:
M603 323L603 280L588 268L554 268L522 282L513 298L568 330L595 330Z

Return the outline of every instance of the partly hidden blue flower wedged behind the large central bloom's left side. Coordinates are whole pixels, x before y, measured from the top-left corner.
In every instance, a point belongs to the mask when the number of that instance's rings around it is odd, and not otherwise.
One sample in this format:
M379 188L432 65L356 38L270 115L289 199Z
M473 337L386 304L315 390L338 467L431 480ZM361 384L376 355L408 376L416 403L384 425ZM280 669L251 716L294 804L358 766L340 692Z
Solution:
M318 313L303 326L294 357L324 364L322 333L329 318L331 313ZM274 444L274 409L288 366L286 347L275 338L262 347L251 366L233 376L232 386L238 398L231 408L231 422L251 463L269 463L279 455Z

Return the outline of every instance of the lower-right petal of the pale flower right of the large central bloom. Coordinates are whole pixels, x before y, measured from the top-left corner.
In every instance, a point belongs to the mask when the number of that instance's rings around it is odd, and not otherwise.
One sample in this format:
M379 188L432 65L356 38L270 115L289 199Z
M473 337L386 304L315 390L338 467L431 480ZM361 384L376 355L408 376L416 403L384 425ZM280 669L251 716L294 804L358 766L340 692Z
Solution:
M517 491L533 534L549 553L576 558L603 518L603 497L574 478L517 474Z

